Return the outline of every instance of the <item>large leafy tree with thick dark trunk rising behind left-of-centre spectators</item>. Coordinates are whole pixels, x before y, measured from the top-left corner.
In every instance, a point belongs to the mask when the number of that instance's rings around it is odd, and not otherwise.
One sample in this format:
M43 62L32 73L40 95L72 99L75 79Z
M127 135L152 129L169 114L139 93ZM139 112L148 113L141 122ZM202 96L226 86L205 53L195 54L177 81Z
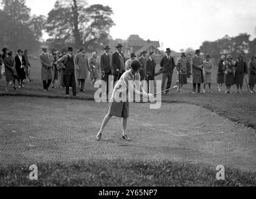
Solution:
M110 28L115 25L109 6L95 4L88 6L83 0L56 1L47 18L46 30L50 35L47 42L52 47L67 45L87 50L100 49L109 39Z

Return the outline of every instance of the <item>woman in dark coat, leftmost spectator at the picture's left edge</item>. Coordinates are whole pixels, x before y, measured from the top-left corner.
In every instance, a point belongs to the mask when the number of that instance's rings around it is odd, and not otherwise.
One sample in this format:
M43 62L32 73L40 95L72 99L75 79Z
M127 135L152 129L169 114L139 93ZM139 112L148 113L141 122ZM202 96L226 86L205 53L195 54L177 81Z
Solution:
M15 76L17 77L16 69L15 69L15 62L14 58L9 55L9 50L4 48L2 49L2 62L4 63L4 72L6 76L6 92L8 92L9 82L13 82L13 88L16 90L15 85Z

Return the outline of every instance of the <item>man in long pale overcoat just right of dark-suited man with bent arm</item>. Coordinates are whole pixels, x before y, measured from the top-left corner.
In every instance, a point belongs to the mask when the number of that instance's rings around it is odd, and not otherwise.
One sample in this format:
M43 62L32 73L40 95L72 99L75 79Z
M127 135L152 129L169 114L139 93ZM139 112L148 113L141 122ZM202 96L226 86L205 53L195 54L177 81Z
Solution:
M90 66L88 57L85 55L85 48L80 47L79 53L75 55L75 65L77 65L77 88L78 91L85 92L85 80L88 77Z

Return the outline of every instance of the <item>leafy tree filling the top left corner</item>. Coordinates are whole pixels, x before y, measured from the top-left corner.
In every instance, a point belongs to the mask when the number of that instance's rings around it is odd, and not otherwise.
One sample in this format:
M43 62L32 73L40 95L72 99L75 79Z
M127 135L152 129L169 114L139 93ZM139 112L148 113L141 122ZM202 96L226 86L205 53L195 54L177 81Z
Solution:
M43 16L31 16L25 0L3 0L0 10L0 45L11 50L36 50L42 37Z

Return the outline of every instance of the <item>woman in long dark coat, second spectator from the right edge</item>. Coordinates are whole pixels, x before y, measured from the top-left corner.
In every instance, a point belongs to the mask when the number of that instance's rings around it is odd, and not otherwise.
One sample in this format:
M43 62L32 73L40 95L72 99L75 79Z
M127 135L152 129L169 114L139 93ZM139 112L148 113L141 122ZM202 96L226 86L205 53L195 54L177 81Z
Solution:
M242 55L239 56L238 62L235 63L235 85L237 85L237 94L242 94L244 84L244 75L248 73L247 63ZM240 88L240 90L239 90Z

